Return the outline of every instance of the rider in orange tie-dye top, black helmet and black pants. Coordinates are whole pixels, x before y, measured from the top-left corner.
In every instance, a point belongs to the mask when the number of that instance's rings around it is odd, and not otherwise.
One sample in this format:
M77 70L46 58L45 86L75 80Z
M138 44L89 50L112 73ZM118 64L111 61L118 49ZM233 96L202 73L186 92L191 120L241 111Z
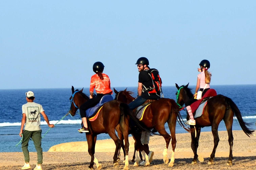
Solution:
M103 73L104 65L102 62L95 62L93 64L93 71L96 73L91 77L90 83L90 100L82 104L79 108L80 115L83 122L83 127L78 129L80 133L89 132L87 119L86 119L86 110L94 107L100 102L100 99L106 94L112 94L112 90L110 89L110 79L107 74ZM96 91L97 95L93 96L93 91Z

